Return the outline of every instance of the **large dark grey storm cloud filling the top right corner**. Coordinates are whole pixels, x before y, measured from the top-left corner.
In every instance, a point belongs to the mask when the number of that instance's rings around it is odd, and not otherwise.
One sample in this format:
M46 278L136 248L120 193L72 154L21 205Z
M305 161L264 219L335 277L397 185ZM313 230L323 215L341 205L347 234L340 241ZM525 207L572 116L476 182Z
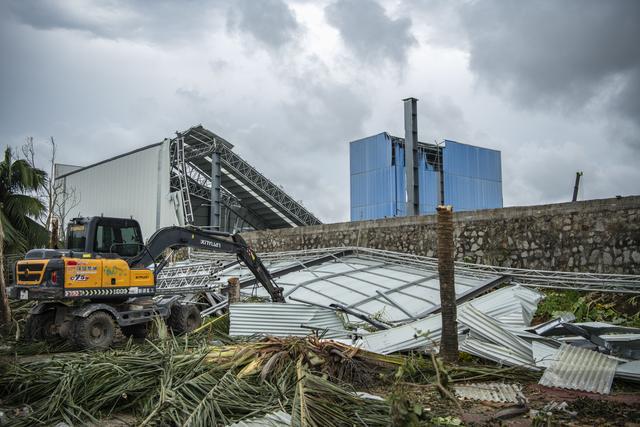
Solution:
M608 98L640 125L639 1L495 0L460 11L481 82L527 108Z

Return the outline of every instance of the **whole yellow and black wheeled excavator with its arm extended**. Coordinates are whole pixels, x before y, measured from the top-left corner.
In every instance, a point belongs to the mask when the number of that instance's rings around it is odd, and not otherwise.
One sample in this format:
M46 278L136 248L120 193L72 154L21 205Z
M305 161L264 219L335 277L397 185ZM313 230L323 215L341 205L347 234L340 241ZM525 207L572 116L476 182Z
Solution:
M284 302L282 288L238 234L165 227L145 245L136 220L100 216L74 218L66 236L64 249L32 249L15 265L9 297L38 301L25 326L29 340L62 337L80 349L105 349L116 325L126 336L144 337L156 316L177 334L197 328L195 304L178 295L152 298L167 249L235 254L274 302Z

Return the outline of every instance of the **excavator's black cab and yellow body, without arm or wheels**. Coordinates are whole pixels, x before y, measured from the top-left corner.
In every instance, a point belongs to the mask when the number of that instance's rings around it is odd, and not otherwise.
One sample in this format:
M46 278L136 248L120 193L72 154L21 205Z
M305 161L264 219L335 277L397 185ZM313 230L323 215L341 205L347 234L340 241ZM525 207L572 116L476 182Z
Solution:
M16 264L18 299L126 300L155 294L153 272L128 260L144 248L134 219L74 218L64 249L32 249Z

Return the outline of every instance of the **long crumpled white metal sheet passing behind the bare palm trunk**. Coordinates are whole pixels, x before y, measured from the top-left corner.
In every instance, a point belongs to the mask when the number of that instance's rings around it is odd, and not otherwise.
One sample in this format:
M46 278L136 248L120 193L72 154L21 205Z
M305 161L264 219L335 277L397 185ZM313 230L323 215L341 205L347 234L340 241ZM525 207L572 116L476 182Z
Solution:
M459 308L473 303L473 306L488 316L499 318L510 313L520 313L525 318L523 302L537 305L542 294L522 286L507 286L461 304ZM528 317L528 316L527 316ZM459 325L459 332L465 329ZM362 337L356 343L366 350L389 354L415 348L428 348L440 341L442 318L440 314L428 316L406 325L374 332Z

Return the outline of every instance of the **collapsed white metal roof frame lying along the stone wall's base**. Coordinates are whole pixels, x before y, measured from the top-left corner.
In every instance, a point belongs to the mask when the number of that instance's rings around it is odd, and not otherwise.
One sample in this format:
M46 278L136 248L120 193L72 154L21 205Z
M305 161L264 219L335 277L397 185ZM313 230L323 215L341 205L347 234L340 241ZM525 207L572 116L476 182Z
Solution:
M365 306L377 301L404 314L404 317L396 318L393 323L424 317L439 310L437 301L420 295L421 292L434 290L431 281L437 278L437 258L358 247L263 253L260 258L276 283L285 288L285 296L291 296L296 290L305 288L318 298L324 298L325 302L332 302L351 310L355 315L364 316L372 315L371 310L365 309ZM204 292L208 301L202 311L205 315L218 312L224 307L220 291L226 287L229 277L239 277L245 290L257 290L255 278L233 256L194 251L191 259L192 261L165 267L158 277L158 294L195 295ZM336 264L345 268L335 271ZM289 281L287 275L296 272L308 273L308 277L303 281ZM407 273L417 278L400 278ZM335 288L346 289L348 286L342 282L344 278L353 279L365 287L381 289L375 294L364 293L361 298L344 301L314 287L314 284L324 282ZM467 290L458 295L460 302L505 281L536 288L640 294L640 276L637 275L526 270L457 262L456 280L467 286ZM389 281L403 284L393 287L385 285ZM409 310L396 301L397 298L408 295L419 303L420 310ZM301 302L314 304L313 299Z

